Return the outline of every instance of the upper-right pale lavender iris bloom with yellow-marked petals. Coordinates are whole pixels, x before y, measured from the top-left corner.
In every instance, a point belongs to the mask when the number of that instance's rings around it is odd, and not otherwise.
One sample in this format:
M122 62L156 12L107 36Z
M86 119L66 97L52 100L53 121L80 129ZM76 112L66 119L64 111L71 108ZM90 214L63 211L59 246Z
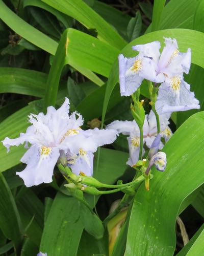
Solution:
M137 45L133 50L139 54L133 58L119 55L120 92L123 96L133 94L143 79L161 83L157 102L158 114L199 109L199 101L190 92L184 81L191 64L191 50L181 53L175 39L165 38L165 47L160 54L160 42Z

